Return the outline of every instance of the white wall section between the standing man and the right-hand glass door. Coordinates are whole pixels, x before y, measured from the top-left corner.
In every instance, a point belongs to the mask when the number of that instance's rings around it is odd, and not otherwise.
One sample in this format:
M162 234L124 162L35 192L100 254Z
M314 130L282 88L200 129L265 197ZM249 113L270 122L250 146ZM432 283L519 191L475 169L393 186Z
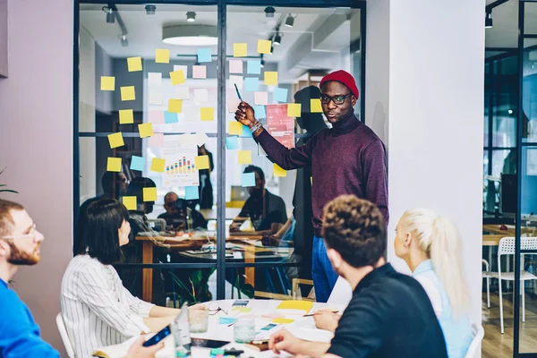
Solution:
M375 128L379 106L389 114L388 260L408 272L393 251L405 209L428 207L450 217L463 236L476 321L482 290L484 5L375 0L368 2L367 19L366 123Z

